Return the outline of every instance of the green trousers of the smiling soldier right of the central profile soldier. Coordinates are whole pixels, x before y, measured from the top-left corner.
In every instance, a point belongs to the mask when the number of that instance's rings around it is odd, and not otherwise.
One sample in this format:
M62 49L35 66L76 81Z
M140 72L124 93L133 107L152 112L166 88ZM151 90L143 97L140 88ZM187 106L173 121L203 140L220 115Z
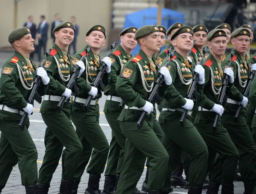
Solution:
M180 127L181 111L161 111L159 123L163 129L163 146L169 154L164 191L171 188L171 171L180 163L182 151L191 157L189 164L189 183L202 187L207 174L208 150L203 138L187 115L184 128Z

